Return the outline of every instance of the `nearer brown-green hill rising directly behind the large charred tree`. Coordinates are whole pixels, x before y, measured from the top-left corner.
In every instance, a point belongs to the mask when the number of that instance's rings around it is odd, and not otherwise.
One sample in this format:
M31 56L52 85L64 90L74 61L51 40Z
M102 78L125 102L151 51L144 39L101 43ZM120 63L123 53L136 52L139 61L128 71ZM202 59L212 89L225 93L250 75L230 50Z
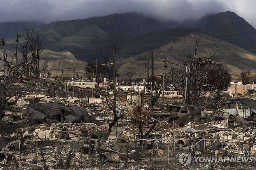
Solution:
M188 56L193 57L196 40L198 40L197 57L204 56L205 53L206 55L215 53L214 61L226 64L232 74L240 74L243 69L255 69L256 54L199 29L179 26L137 36L124 45L117 55L117 61L120 62L119 75L126 75L130 70L138 70L141 74L147 73L144 59L151 58L151 52L154 52L156 59L155 74L163 74L166 59L169 61L168 69L184 69L183 66L176 64L183 64Z

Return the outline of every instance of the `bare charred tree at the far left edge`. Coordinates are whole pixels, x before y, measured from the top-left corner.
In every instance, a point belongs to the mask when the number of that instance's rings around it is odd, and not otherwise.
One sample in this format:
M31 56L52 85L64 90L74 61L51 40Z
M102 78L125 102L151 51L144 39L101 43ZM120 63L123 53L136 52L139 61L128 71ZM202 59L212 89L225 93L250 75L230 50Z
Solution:
M25 30L22 37L16 35L15 44L11 48L5 48L5 40L0 40L1 53L0 61L3 63L4 71L0 75L0 121L5 116L4 109L7 106L16 104L16 102L25 95L29 85L23 85L21 90L14 90L13 85L33 66L35 59L33 54L39 55L33 48L33 31ZM23 43L19 43L23 38ZM37 44L37 43L36 43ZM8 94L12 89L12 92Z

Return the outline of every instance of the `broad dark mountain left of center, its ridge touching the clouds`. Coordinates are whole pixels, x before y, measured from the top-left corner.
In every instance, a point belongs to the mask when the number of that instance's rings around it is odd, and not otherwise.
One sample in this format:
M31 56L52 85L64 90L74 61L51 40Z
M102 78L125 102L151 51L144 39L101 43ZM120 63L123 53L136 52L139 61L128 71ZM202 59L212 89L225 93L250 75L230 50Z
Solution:
M177 25L177 21L161 22L144 14L130 12L54 22L35 31L48 49L68 50L76 57L93 58L100 54L100 49L127 43L127 38Z

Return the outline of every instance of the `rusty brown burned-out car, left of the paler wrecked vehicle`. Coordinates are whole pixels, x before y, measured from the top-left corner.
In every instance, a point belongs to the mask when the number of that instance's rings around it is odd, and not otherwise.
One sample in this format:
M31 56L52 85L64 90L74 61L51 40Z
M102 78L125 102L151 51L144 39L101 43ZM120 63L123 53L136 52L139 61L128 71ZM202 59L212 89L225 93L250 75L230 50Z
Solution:
M177 120L187 114L189 114L191 111L194 111L196 109L196 106L194 105L188 105L188 104L177 104L177 105L171 105L166 108L164 108L159 113L154 113L154 117L162 117L162 118L169 118L170 120ZM200 119L207 118L207 113L204 111L201 111Z

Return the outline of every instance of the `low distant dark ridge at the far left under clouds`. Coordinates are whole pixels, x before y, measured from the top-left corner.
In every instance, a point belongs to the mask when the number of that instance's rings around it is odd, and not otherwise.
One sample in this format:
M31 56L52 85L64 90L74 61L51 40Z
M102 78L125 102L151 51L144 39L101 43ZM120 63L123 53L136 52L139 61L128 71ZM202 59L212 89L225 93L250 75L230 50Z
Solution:
M16 34L20 34L24 31L24 28L34 29L38 26L42 26L44 23L40 21L16 21L0 23L0 38L12 38Z

